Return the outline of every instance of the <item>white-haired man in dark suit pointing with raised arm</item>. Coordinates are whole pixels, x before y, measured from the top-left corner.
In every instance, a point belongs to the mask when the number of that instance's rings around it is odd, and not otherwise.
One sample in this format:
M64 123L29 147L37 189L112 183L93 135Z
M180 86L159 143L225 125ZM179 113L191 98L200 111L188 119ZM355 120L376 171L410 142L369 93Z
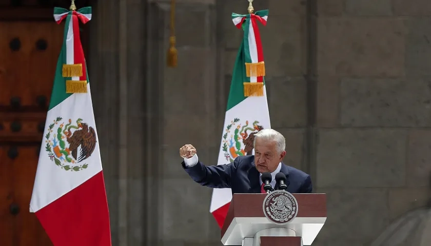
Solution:
M285 138L273 129L264 129L254 135L254 155L238 156L233 162L206 167L198 159L192 145L180 148L184 158L183 169L202 186L210 188L230 188L234 193L265 193L260 176L271 173L271 186L277 190L276 174L286 175L287 190L290 193L311 193L310 175L285 165Z

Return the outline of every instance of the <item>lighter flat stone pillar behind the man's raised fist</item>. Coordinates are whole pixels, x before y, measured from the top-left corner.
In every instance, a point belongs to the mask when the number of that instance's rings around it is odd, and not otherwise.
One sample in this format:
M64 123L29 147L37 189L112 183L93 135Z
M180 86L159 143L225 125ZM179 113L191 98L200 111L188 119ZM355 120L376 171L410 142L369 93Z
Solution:
M157 226L157 235L149 238L153 245L220 245L219 229L209 213L211 189L192 181L179 157L181 146L193 144L201 161L217 162L223 119L216 112L220 81L215 72L215 6L213 1L177 1L177 68L166 67L169 1L149 6L148 83L161 92L154 101L159 114L152 116L154 127L159 124L152 145L159 155L152 157L156 170L151 174L158 191L146 201L153 219L161 220L147 220L148 226Z

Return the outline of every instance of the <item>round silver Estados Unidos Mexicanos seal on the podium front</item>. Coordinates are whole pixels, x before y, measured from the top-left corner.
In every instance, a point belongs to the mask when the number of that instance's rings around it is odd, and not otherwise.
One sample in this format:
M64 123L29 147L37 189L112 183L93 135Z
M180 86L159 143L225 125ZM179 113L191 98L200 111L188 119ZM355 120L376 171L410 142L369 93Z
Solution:
M287 191L273 191L263 200L263 213L272 222L284 224L298 214L298 202Z

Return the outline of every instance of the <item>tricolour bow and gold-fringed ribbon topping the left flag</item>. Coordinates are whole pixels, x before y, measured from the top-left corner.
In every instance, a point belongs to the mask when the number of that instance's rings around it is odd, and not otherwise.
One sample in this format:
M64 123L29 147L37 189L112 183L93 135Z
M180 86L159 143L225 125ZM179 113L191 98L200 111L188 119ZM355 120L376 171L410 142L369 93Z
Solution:
M75 10L54 8L54 19L60 24L66 19L63 47L59 59L63 64L63 77L67 93L87 92L87 66L81 44L79 21L86 24L91 20L91 7ZM57 68L58 69L58 68Z

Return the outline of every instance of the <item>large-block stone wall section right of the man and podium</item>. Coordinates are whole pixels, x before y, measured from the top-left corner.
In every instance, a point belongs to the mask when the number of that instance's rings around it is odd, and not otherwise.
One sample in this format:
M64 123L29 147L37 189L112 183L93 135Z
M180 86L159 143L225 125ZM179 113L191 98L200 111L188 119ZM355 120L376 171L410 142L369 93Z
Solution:
M428 1L317 1L317 245L366 245L430 198L430 15Z

